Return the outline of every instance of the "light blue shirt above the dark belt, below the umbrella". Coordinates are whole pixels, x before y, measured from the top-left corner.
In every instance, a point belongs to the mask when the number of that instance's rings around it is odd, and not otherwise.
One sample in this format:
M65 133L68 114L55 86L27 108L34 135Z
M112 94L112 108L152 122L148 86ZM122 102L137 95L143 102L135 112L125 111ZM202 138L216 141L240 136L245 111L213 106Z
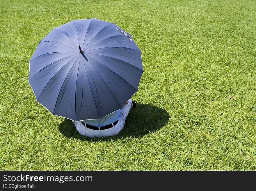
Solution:
M88 119L88 120L84 120L82 122L95 126L95 127L103 127L105 125L109 125L113 122L115 122L116 120L119 119L120 115L121 115L122 109L117 110L105 117L103 117L102 119Z

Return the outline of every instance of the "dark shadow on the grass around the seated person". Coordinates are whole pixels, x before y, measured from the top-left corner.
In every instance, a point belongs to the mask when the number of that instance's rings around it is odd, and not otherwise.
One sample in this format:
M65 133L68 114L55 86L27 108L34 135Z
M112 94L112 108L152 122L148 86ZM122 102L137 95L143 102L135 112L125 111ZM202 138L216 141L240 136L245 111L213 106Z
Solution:
M169 118L169 114L164 109L157 106L137 103L137 107L130 110L124 128L116 136L94 139L86 138L77 132L77 129L70 119L65 119L59 125L59 130L61 134L69 138L72 137L80 140L88 139L91 141L111 141L118 140L122 137L141 137L146 133L155 132L167 124Z

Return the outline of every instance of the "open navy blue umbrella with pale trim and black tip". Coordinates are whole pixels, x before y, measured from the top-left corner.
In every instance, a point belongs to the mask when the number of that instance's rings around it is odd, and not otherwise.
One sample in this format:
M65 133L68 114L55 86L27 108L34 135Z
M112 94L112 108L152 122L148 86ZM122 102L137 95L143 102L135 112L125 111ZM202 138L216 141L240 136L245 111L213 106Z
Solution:
M36 100L74 121L121 109L138 91L142 73L141 51L131 35L99 19L54 28L29 61Z

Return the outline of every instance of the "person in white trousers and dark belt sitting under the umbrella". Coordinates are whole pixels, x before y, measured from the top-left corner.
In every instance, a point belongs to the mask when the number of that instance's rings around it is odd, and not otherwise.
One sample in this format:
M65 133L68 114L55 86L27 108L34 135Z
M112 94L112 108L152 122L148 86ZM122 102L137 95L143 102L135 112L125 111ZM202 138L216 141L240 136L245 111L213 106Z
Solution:
M136 102L129 99L125 106L102 119L87 119L73 121L77 131L86 137L107 137L117 135L125 125L125 119L131 108L136 108Z

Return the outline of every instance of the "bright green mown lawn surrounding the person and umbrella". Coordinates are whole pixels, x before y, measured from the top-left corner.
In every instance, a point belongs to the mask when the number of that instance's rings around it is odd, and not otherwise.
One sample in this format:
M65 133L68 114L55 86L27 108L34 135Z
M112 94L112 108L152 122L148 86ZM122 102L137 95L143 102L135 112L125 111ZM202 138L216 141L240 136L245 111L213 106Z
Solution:
M28 83L38 42L88 18L142 51L138 106L111 138L83 137ZM0 0L0 169L256 170L255 18L249 0Z

